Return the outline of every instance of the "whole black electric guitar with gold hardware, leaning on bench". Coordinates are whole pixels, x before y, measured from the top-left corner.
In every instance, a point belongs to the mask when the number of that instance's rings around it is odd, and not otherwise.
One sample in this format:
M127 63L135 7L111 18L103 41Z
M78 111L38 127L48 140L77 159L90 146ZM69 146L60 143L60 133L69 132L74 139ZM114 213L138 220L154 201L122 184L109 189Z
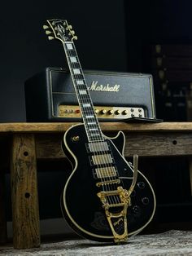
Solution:
M94 241L126 241L141 232L155 213L155 194L146 177L124 158L124 133L103 135L76 54L76 36L67 20L47 20L49 39L63 43L83 124L69 128L63 151L72 173L63 188L63 215L81 236ZM112 124L111 124L112 126Z

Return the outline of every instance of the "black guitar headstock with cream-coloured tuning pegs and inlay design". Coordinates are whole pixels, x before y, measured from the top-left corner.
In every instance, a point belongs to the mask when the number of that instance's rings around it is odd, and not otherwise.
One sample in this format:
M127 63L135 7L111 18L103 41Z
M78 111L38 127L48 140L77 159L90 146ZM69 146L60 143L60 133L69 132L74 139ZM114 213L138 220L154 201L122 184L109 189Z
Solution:
M61 42L72 42L77 40L75 36L75 31L72 30L72 25L68 25L67 20L46 20L47 25L43 26L46 30L48 39L59 39Z

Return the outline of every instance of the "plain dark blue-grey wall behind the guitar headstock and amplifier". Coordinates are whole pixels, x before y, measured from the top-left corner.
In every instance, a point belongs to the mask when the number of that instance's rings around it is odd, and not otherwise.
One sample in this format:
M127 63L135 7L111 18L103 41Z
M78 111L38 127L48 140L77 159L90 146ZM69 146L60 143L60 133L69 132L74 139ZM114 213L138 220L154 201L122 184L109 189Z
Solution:
M47 40L47 19L72 24L83 68L126 70L124 1L5 1L1 4L0 121L25 121L24 81L48 66L66 66L59 41Z

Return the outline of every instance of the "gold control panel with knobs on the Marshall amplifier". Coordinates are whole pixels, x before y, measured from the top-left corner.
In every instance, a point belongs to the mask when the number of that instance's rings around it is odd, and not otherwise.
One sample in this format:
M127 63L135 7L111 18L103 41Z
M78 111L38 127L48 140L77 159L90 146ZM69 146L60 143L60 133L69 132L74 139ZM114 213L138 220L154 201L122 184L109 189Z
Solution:
M81 118L81 110L77 105L59 105L59 117ZM145 117L143 108L94 106L98 118L126 119L131 117Z

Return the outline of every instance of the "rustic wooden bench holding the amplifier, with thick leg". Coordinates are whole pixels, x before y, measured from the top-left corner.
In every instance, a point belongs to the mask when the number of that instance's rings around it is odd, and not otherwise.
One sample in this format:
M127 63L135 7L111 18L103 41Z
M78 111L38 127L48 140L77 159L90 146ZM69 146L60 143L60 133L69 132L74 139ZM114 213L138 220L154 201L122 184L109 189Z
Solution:
M40 241L37 193L37 160L63 159L61 140L74 123L0 124L0 242L7 240L3 174L11 170L13 244L15 248L38 247ZM192 156L192 122L101 123L111 136L123 130L125 157ZM64 168L64 166L63 166ZM192 172L190 184L192 188Z

